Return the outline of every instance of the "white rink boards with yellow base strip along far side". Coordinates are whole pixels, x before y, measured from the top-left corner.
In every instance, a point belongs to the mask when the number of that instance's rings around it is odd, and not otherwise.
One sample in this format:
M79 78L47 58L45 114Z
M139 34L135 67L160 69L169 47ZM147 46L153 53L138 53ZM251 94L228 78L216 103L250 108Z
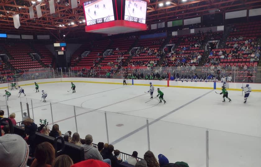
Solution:
M29 81L18 82L21 86L34 85L34 82L44 83L57 83L57 82L82 82L82 83L105 83L105 84L122 84L122 79L105 79L105 78L52 78L52 79L36 79ZM127 79L128 85L140 85L149 86L152 82L154 86L161 87L175 87L175 88L198 88L198 89L221 89L221 82L181 82L181 81L167 81L167 80L139 80L139 79ZM243 86L245 86L244 83ZM253 91L261 92L260 83L248 83ZM228 90L241 91L242 83L229 83ZM0 84L0 89L7 89L7 83Z

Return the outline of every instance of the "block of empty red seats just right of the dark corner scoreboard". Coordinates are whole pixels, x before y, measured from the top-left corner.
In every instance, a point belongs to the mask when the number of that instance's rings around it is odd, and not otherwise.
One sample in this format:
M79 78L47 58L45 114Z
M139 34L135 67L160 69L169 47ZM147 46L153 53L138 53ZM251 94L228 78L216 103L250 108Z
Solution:
M94 63L98 63L98 58L101 59L103 57L103 52L109 44L109 40L94 41L91 53L82 58L79 63L77 63L77 66L93 66Z

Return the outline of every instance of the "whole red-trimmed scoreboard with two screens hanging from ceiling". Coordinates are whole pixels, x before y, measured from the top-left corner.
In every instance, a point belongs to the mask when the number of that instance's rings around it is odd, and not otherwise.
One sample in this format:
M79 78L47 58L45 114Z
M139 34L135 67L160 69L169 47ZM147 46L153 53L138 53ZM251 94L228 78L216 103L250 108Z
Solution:
M80 3L84 8L86 32L117 34L147 29L149 0L80 0Z

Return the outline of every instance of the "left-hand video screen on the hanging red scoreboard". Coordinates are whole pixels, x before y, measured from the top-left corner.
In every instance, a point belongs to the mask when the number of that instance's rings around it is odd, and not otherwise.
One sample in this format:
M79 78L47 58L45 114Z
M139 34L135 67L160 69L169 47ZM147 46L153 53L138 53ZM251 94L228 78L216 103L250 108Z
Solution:
M84 2L86 25L114 20L112 0L93 0Z

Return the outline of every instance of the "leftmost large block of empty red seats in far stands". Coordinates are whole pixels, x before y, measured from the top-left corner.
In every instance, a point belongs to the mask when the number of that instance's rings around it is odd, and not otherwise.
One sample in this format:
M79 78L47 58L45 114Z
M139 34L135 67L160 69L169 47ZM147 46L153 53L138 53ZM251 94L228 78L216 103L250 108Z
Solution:
M30 45L16 43L15 45L5 45L4 47L13 58L9 62L15 69L42 67L39 62L33 61L29 56L30 53L34 53Z

